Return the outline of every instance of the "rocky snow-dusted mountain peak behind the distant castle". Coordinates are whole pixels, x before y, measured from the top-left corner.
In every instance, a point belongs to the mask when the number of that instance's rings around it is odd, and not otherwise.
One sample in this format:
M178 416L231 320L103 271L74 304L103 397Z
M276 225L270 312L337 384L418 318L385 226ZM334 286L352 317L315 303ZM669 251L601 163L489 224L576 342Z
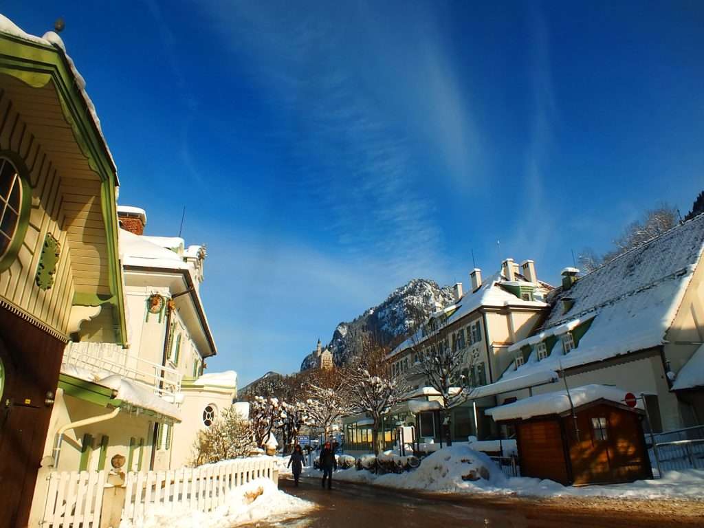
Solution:
M395 344L415 325L414 314L419 310L429 315L436 303L447 306L453 302L451 287L439 287L429 279L411 279L408 284L395 289L386 301L369 308L351 322L341 322L332 333L332 339L324 348L332 351L336 365L344 365L360 353L363 337L374 336L383 344ZM315 364L313 353L308 354L301 371Z

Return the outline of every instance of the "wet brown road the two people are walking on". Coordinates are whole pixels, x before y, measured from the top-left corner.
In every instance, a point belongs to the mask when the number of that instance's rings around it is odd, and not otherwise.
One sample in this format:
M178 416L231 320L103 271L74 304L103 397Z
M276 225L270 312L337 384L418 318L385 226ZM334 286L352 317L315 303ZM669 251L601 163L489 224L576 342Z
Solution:
M437 494L408 494L363 484L334 482L321 489L320 480L302 478L299 487L279 480L279 489L304 498L318 508L303 517L281 522L258 522L266 527L350 528L662 528L681 524L648 512L615 513L598 509L556 508L516 498L458 498Z

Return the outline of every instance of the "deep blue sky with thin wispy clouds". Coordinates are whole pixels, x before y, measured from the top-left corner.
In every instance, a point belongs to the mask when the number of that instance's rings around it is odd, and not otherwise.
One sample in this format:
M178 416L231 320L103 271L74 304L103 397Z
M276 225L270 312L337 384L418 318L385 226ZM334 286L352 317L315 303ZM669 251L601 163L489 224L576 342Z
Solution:
M156 235L186 206L209 367L241 384L296 370L410 278L467 283L472 251L557 282L572 250L704 187L700 2L0 9L40 35L65 17L120 203Z

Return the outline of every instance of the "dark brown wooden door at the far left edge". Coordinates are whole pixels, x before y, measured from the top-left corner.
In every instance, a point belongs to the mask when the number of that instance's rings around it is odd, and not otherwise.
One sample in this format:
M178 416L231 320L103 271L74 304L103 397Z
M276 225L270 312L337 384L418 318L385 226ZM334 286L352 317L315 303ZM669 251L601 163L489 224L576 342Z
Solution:
M0 308L0 528L26 526L63 343Z

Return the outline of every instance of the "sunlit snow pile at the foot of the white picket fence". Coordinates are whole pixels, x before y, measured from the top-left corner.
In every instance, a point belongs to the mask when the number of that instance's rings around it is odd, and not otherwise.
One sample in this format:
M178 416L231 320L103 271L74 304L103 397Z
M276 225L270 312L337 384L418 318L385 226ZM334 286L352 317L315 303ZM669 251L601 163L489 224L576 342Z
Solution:
M225 505L210 513L191 510L185 505L151 508L133 523L122 521L120 528L227 528L259 520L275 522L298 517L315 505L285 494L270 479L256 479L234 489Z

